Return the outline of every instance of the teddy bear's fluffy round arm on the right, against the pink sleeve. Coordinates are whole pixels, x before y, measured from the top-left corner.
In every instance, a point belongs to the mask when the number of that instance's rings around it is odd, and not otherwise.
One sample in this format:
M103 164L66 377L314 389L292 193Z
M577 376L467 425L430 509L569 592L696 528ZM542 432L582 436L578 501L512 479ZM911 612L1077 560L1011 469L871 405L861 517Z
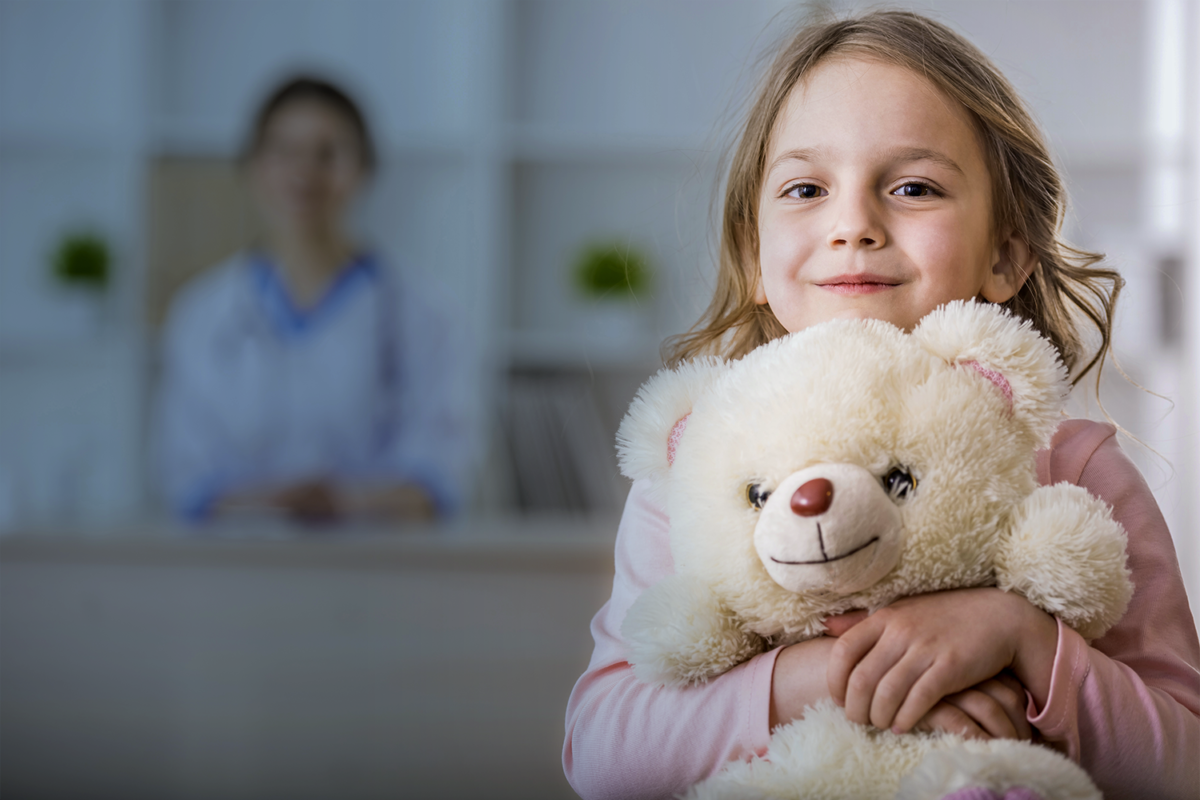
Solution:
M1018 506L996 577L1001 589L1086 639L1112 627L1133 595L1124 529L1102 500L1070 483L1040 487Z

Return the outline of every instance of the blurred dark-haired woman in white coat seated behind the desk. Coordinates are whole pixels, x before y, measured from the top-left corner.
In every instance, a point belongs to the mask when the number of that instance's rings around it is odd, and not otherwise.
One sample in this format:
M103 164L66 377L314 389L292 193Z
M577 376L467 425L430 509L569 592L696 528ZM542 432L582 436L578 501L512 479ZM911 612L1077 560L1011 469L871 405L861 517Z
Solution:
M160 477L199 521L426 519L463 505L470 362L427 288L346 217L374 168L358 106L316 78L258 112L245 172L263 240L176 296L164 331Z

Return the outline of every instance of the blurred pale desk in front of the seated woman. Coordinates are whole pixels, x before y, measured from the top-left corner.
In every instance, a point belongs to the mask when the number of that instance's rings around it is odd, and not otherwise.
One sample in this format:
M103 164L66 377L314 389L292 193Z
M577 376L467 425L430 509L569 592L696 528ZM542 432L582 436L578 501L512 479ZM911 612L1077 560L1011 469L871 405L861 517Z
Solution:
M570 798L616 519L0 540L5 796Z

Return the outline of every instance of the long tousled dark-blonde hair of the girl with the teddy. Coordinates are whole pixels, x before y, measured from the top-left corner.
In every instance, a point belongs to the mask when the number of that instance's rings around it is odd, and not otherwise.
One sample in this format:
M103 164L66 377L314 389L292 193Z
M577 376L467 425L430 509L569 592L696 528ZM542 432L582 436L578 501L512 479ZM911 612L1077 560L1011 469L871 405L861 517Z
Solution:
M667 361L677 365L704 354L740 357L787 332L768 305L755 302L758 198L767 146L792 89L836 55L865 56L912 70L967 110L992 179L992 230L1012 231L1037 257L1032 275L1003 307L1030 320L1057 348L1078 383L1108 353L1112 308L1123 281L1115 270L1096 266L1103 255L1062 240L1066 190L1042 132L1008 80L988 56L949 28L904 11L811 24L779 50L732 154L713 301L690 331L667 341ZM1081 318L1099 332L1094 353L1082 342ZM1087 361L1080 368L1084 359Z

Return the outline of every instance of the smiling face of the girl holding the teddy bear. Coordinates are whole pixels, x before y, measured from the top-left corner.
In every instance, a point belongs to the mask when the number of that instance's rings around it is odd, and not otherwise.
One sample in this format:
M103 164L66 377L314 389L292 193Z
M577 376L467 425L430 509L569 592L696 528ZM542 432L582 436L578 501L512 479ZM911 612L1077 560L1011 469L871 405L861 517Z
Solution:
M839 318L911 330L950 300L1016 293L1028 249L996 233L967 113L904 67L836 58L772 133L756 300L793 332Z

